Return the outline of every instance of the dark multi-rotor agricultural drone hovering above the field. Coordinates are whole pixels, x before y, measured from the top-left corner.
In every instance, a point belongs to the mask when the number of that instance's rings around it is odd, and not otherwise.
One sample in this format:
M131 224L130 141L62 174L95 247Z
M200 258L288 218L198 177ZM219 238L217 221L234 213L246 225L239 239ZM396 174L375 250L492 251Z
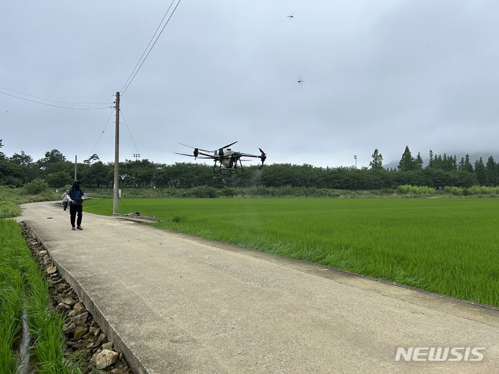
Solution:
M241 157L255 157L256 159L261 159L261 166L259 167L259 170L261 170L263 166L263 161L267 158L267 155L261 148L259 148L261 154L260 156L257 156L256 154L249 154L249 153L244 153L244 152L237 152L234 150L231 150L229 147L233 144L236 144L237 141L234 141L234 143L230 143L225 145L222 148L219 148L218 150L202 150L201 148L195 148L191 147L191 145L186 145L179 143L180 145L184 145L189 148L193 148L194 152L193 154L186 154L186 153L177 153L176 154L182 154L183 156L189 156L189 157L194 157L194 159L197 159L198 157L200 159L212 159L215 161L215 164L213 165L213 172L222 172L224 170L227 170L230 174L238 174L238 170L240 172L243 172L243 162L242 161L248 161L248 160L242 160ZM203 153L203 152L208 152L208 153ZM209 153L211 152L211 154ZM239 163L239 168L238 168L238 163Z

